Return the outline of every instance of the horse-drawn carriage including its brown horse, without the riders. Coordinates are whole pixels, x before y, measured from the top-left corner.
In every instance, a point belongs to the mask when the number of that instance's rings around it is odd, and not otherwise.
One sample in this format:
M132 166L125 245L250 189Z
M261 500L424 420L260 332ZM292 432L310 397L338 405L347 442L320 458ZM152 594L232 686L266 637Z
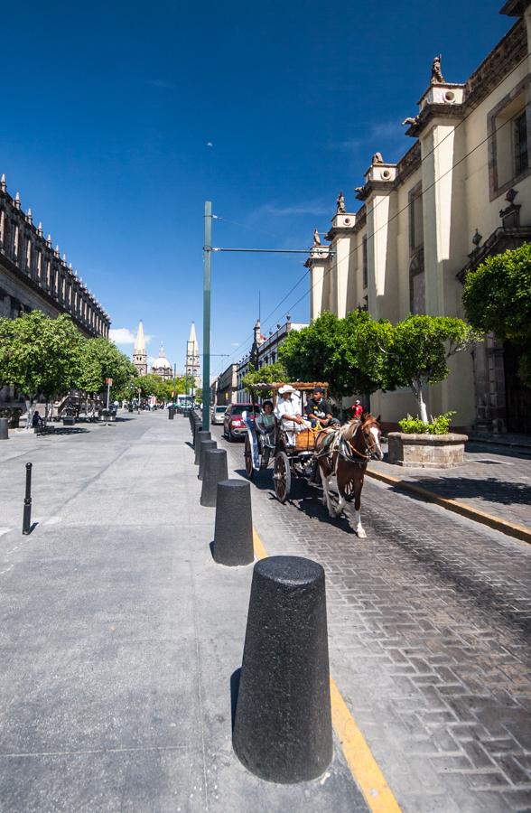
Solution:
M257 384L256 392L272 392L273 400L278 397L278 390L285 384ZM328 384L306 383L296 381L289 385L297 390L300 397L298 412L304 414L304 401L315 388L321 388L326 397ZM256 429L256 415L244 413L242 416L247 425L245 441L245 464L247 477L252 479L258 472L268 468L273 461L273 483L275 494L280 502L285 502L292 491L293 479L321 481L322 502L328 508L331 517L339 517L345 504L354 501L356 532L365 537L361 526L360 505L361 489L367 463L371 459L383 457L380 445L379 416L365 414L350 420L342 426L321 429L296 427L298 431L286 428L286 423L275 425L268 433L262 434ZM254 418L254 419L253 419ZM316 475L319 474L319 478ZM331 478L335 478L338 488L337 506L331 500Z

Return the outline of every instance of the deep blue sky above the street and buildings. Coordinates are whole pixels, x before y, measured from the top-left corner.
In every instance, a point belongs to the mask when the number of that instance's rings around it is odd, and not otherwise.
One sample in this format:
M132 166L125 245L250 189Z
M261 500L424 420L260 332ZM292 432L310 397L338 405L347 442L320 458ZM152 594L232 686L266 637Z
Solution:
M182 369L192 321L202 351L204 201L214 245L309 246L340 189L358 208L371 154L412 144L400 122L434 54L448 81L467 79L514 22L501 5L6 4L0 173L112 327L142 318L150 354L163 341ZM265 333L288 311L308 320L303 259L213 257L213 354L243 355L259 290Z

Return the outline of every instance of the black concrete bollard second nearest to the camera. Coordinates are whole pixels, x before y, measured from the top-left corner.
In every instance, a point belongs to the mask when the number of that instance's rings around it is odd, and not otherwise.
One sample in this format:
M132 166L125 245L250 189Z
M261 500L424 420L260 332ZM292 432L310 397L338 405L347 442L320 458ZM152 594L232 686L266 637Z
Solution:
M219 565L249 565L254 561L251 486L245 480L218 483L213 555Z

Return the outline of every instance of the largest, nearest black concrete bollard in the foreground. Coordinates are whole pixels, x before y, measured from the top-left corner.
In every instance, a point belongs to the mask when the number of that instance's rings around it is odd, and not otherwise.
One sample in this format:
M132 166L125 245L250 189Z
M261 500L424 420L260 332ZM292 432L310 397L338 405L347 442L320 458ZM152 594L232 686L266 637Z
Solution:
M324 571L311 559L255 565L232 744L272 782L315 779L331 762Z

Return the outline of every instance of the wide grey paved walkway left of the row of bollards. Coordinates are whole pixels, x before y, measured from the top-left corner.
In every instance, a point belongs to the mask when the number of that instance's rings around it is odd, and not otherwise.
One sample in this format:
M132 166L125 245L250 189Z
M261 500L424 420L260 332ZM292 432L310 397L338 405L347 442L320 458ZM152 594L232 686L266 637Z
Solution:
M0 810L366 809L337 743L294 786L232 751L252 565L213 562L189 440L154 413L0 445Z

